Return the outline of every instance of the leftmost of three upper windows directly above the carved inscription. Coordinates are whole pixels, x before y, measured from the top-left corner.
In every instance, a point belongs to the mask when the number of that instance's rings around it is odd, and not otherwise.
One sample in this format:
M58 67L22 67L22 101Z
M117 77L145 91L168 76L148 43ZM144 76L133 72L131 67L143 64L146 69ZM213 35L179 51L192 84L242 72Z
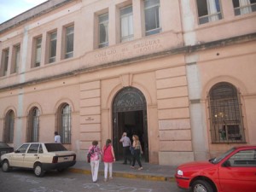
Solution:
M108 14L99 15L99 48L108 46Z

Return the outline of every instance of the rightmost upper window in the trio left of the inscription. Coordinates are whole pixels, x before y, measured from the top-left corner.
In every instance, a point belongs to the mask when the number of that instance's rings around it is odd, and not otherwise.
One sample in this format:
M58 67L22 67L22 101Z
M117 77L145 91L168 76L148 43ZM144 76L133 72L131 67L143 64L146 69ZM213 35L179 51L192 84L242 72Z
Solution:
M66 28L65 59L73 57L73 37L74 27L68 26Z

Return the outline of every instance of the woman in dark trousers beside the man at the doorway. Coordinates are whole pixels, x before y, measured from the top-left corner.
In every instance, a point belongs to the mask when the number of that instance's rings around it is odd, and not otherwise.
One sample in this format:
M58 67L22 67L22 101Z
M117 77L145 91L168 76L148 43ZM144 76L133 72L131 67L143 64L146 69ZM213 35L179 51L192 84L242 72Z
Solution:
M139 141L139 138L137 137L137 135L133 135L132 136L132 148L134 148L134 153L133 153L133 158L132 158L132 165L131 168L134 169L135 167L135 161L137 160L138 165L140 166L138 168L138 170L142 170L143 169L143 165L140 159L141 154L143 154L143 150L142 150L142 146L141 143Z

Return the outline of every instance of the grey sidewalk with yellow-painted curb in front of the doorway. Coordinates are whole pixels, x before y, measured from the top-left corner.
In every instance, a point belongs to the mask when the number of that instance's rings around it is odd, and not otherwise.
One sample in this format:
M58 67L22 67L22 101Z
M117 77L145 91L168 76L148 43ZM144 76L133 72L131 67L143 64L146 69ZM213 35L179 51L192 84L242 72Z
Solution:
M143 163L143 170L131 169L130 165L123 165L123 161L113 163L113 177L125 178L142 178L154 181L174 182L174 174L176 166L160 166L154 164ZM135 165L138 168L137 165ZM69 172L90 174L90 163L85 161L77 161L77 163L69 168ZM99 175L104 175L104 163L100 163Z

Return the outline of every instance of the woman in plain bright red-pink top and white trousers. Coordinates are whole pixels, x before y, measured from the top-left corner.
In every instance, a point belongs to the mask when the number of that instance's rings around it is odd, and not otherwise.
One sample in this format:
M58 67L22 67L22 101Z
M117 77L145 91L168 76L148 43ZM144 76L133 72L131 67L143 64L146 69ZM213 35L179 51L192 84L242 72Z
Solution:
M108 178L108 167L109 167L109 178L112 177L112 167L113 161L115 161L113 146L111 145L111 140L107 139L106 145L103 147L103 162L104 162L104 181Z

